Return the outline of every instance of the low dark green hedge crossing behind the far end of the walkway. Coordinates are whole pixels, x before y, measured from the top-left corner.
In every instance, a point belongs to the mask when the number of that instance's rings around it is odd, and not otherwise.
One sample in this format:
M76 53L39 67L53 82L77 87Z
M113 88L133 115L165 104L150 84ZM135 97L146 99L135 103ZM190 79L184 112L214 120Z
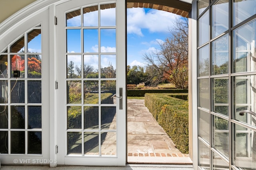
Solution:
M127 90L127 96L144 96L146 93L188 93L188 89Z

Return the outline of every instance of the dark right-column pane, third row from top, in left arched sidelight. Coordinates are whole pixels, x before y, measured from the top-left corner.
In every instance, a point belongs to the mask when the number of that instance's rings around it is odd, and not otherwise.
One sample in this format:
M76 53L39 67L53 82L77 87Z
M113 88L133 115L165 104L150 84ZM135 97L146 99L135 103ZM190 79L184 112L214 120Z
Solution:
M28 103L42 103L41 80L28 81Z

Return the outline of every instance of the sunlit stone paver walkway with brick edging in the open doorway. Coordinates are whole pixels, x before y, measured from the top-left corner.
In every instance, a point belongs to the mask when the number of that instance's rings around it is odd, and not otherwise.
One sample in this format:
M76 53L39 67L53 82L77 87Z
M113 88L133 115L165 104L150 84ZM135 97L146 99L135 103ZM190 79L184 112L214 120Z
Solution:
M127 100L128 162L191 164L145 106L144 100Z

